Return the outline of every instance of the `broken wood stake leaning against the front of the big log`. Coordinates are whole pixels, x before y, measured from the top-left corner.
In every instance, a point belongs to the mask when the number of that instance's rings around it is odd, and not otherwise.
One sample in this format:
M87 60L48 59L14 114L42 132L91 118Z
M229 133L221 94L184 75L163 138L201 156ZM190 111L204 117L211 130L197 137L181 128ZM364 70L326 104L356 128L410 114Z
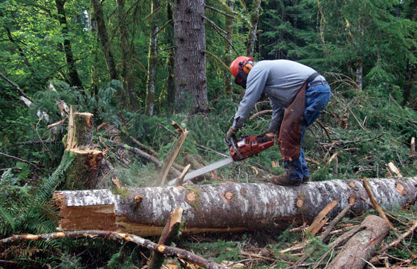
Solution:
M182 212L184 209L176 208L168 218L167 224L163 229L162 235L160 235L158 244L165 244L170 246L175 237L179 234L179 229L181 228L181 218ZM158 252L153 252L151 261L149 262L148 269L159 269L163 264L164 256Z

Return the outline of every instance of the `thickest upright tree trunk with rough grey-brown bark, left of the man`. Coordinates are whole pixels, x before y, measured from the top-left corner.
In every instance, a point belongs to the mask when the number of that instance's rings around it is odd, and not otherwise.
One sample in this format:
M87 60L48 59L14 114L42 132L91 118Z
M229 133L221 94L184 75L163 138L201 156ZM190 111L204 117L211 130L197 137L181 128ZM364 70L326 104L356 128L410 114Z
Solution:
M207 112L204 0L174 1L175 109Z

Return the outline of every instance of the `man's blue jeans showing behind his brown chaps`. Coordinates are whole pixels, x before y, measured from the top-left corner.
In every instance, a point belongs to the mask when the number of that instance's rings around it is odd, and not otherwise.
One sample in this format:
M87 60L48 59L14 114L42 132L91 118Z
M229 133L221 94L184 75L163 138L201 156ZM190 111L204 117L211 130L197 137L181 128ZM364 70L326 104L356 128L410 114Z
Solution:
M300 156L296 160L285 161L284 168L287 170L287 177L294 181L302 181L303 177L310 177L306 158L301 143L303 142L306 127L314 123L330 99L330 86L316 85L306 89L306 105L304 107L304 118L301 127Z

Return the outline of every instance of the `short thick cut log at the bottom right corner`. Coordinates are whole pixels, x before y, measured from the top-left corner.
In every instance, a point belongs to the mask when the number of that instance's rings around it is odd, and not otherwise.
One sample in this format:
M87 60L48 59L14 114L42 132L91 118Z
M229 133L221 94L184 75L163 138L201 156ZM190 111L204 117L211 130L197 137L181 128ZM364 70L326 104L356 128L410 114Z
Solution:
M362 221L364 230L356 233L343 246L341 252L329 264L329 269L362 269L374 255L382 240L388 235L390 227L379 216L370 215Z

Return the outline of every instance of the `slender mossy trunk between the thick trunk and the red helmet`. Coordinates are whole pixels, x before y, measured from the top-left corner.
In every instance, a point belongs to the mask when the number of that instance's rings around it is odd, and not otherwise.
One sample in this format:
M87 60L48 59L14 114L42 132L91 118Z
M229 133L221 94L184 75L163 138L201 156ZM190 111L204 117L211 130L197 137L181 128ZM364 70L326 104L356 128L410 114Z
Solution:
M226 4L231 10L233 11L233 5L235 4L235 0L227 0ZM232 63L232 48L231 43L233 41L233 18L229 16L225 16L225 29L227 32L226 38L228 41L224 41L225 51L224 51L224 64L227 66L230 66ZM228 96L232 96L233 90L232 90L232 78L231 73L226 72L224 76L224 94Z

